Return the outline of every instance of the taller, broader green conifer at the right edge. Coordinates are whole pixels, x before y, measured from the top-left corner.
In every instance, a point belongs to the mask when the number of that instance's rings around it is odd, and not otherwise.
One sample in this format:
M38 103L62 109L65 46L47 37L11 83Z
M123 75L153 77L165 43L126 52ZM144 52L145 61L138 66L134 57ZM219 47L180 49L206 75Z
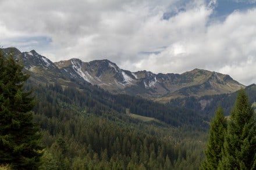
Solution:
M244 89L238 92L227 124L219 169L256 169L255 113Z

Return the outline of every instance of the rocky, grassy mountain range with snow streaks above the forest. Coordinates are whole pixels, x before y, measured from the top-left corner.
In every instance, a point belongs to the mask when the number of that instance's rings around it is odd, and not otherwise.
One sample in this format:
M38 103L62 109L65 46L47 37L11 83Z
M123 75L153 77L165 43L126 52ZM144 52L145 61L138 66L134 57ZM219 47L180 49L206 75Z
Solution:
M229 75L195 68L183 74L162 74L151 71L131 72L119 68L109 60L83 62L70 59L51 62L35 50L20 52L16 48L2 49L22 60L31 79L40 83L58 82L63 86L79 87L92 84L111 93L142 96L159 102L169 102L177 97L218 95L232 93L244 87Z

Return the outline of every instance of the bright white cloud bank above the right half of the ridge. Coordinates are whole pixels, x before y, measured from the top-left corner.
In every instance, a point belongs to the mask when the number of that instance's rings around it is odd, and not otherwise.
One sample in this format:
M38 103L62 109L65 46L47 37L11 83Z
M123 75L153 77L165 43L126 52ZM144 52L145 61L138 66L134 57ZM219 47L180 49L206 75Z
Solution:
M161 53L151 54L134 67L155 73L183 73L199 67L230 74L246 85L255 83L256 10L236 11L223 22L207 26L209 15L211 10L201 7L173 17L170 32L179 31L177 37Z

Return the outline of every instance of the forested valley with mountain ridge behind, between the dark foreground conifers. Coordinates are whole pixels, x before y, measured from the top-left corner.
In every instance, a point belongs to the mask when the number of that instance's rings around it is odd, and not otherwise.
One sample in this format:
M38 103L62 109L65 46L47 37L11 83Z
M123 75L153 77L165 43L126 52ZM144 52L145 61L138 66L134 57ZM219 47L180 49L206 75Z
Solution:
M229 115L245 87L207 70L131 73L109 60L53 63L34 50L2 50L30 75L41 169L198 169L216 107ZM256 86L245 89L255 101Z

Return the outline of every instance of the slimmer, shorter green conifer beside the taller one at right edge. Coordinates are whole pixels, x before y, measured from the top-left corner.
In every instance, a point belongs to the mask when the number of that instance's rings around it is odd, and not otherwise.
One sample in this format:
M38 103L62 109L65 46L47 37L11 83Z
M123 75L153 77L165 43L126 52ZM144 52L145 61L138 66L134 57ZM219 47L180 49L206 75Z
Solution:
M202 162L202 169L217 169L219 161L222 159L222 149L226 131L226 120L223 116L221 107L215 113L211 121L207 149L205 151L206 159Z

